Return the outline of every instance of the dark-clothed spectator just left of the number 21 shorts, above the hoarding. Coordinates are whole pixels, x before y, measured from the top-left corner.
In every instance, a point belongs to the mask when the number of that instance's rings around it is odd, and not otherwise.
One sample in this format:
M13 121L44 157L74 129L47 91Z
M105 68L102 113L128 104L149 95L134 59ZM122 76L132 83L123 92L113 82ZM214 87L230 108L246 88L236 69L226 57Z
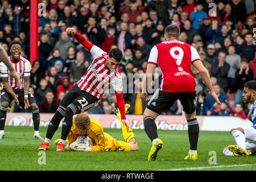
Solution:
M47 90L46 98L41 102L39 111L40 113L55 113L59 107L59 102L54 96L52 90Z

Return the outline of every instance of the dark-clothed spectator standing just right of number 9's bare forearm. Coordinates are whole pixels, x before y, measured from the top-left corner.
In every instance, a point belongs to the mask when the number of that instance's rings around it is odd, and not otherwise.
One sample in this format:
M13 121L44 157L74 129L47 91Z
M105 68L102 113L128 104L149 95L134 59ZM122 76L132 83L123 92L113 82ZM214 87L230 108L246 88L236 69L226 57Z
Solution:
M212 65L212 76L217 78L217 82L220 87L226 93L228 91L228 72L230 65L225 62L226 53L218 53L218 63Z

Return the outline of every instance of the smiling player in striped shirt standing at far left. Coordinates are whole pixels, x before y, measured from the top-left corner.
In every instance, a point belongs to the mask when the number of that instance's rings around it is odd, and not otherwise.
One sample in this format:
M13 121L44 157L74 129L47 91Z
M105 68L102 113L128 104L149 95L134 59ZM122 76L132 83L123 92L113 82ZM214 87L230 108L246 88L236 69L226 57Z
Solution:
M1 107L0 107L0 139L5 137L5 121L8 106L11 101L15 100L17 105L23 109L30 108L32 111L32 120L34 123L34 139L42 140L39 134L40 114L35 98L28 89L30 88L30 71L31 64L26 58L20 56L22 44L13 41L10 44L9 60L12 67L18 73L21 85L10 75L10 69L3 62L0 63L1 78L3 81L3 89L1 90Z

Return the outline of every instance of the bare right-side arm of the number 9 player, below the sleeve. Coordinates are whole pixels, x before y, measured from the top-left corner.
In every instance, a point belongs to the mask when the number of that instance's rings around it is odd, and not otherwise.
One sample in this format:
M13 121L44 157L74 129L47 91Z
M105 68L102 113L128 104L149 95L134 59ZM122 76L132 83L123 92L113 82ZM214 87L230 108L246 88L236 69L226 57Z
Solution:
M201 60L196 60L192 64L197 69L197 71L199 71L200 76L201 76L202 80L204 81L204 84L207 86L207 88L209 90L210 97L214 98L214 100L218 104L221 104L220 100L218 100L217 94L213 91L213 87L212 87L212 84L210 82L209 73L208 73L207 69L204 67Z

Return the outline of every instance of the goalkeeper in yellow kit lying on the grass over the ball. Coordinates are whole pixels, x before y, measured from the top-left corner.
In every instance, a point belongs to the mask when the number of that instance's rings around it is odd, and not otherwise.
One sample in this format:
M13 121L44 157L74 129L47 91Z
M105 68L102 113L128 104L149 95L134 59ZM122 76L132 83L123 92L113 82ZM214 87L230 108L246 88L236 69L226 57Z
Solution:
M129 109L130 105L125 105L125 110ZM133 130L129 125L129 131L121 122L121 114L119 109L115 110L115 115L119 118L122 126L123 138L126 142L117 140L103 131L103 127L96 119L89 118L87 113L77 114L73 119L73 125L68 134L68 144L65 146L66 150L75 151L137 151L138 143L135 140ZM86 135L93 141L93 146L89 147L81 142L81 135ZM79 138L80 137L80 138ZM55 140L58 143L59 139ZM73 144L72 144L73 143ZM70 147L72 144L72 148Z

